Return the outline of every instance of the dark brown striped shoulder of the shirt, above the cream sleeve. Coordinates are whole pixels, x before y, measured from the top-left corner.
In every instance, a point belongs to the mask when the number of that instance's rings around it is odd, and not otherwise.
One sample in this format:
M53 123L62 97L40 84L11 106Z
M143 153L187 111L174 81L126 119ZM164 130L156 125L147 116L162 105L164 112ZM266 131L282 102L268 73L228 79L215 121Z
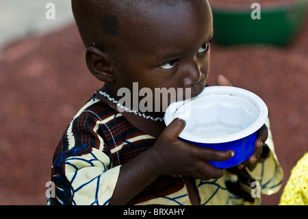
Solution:
M69 156L78 156L90 152L91 148L110 155L117 146L127 143L133 150L142 150L153 145L153 141L153 137L133 126L121 113L94 94L66 128L54 158L66 152L70 152Z

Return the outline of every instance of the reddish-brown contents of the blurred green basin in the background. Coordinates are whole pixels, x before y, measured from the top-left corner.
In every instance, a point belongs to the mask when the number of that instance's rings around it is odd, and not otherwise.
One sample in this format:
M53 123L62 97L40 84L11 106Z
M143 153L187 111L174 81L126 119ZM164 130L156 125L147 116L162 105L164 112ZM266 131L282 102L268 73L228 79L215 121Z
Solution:
M261 11L264 12L279 12L282 10L292 10L296 5L308 3L308 0L297 0L297 1L288 1L281 0L278 2L267 2L262 3ZM227 14L233 13L248 13L251 14L251 3L247 4L224 4L215 1L209 1L209 5L211 5L212 12L223 12Z

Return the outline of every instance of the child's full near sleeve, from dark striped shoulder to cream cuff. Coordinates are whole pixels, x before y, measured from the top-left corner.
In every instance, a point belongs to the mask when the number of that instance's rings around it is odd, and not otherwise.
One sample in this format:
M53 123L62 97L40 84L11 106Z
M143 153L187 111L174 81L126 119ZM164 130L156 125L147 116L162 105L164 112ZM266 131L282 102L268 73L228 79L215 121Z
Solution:
M118 179L104 152L108 148L99 136L101 117L95 109L100 100L91 98L70 122L53 157L51 181L55 189L49 205L107 205Z

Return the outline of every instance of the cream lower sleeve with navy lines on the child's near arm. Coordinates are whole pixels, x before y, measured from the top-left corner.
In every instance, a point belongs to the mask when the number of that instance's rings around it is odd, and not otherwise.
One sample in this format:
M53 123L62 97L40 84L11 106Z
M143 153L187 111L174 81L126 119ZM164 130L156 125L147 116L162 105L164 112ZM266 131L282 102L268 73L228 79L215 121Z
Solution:
M111 165L106 154L90 145L62 152L53 163L55 194L51 194L48 204L107 205L120 171L120 165Z

